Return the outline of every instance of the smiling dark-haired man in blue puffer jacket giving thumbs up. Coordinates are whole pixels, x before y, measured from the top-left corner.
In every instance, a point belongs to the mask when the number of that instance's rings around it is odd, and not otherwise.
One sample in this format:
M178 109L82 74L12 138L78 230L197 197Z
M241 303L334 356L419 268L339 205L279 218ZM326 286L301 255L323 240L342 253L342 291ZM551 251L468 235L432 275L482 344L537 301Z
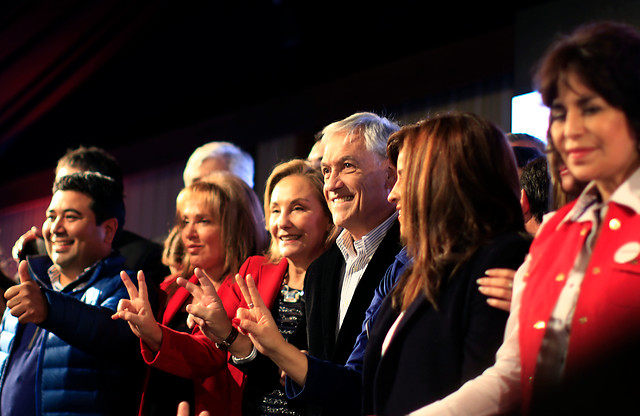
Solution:
M111 247L124 214L122 186L112 178L83 172L56 180L42 228L48 256L22 261L20 284L5 293L0 415L137 414L139 340L111 319L128 297L124 258Z

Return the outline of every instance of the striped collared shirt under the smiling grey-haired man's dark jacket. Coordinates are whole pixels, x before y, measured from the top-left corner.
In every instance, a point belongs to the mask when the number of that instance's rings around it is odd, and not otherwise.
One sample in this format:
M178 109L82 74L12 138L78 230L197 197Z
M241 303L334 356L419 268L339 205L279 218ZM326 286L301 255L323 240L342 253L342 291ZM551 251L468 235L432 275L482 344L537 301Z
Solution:
M378 246L382 242L382 239L389 231L389 228L393 225L393 222L398 217L398 213L394 212L389 218L387 218L382 224L378 225L373 230L369 231L367 235L360 240L354 241L351 233L347 230L342 230L336 244L342 252L342 256L345 260L345 265L342 270L342 285L340 288L340 302L338 304L338 325L336 326L336 337L342 326L349 304L353 298L353 294L358 287L358 283L362 278L369 261L375 254ZM384 274L384 270L380 271L380 275Z

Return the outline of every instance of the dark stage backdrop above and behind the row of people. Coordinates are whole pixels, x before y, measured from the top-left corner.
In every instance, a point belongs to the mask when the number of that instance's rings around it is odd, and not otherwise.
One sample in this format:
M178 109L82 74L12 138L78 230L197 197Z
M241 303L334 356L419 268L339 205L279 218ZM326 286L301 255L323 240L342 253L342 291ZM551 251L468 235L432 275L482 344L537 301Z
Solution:
M560 31L640 22L639 2L0 2L0 250L40 225L57 159L97 145L126 174L127 228L162 236L190 153L227 140L273 165L356 111L401 123L510 99Z

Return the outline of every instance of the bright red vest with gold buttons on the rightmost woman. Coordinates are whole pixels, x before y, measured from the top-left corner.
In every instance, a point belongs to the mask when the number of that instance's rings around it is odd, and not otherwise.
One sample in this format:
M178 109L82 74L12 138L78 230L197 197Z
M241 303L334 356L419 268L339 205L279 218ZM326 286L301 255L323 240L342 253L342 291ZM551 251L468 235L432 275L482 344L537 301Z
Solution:
M531 401L546 323L592 227L589 221L562 222L574 205L559 210L531 246L519 329L524 409ZM620 256L625 244L640 240L640 215L615 202L608 205L571 322L565 379L610 357L640 331L640 252Z

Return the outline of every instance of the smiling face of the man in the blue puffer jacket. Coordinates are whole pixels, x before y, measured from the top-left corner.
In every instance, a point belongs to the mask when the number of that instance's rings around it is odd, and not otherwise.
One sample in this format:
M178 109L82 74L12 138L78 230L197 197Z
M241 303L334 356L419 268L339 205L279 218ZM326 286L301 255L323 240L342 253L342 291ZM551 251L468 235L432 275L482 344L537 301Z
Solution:
M42 225L47 254L68 280L75 280L111 251L115 219L96 224L91 203L81 192L56 191L47 208Z

